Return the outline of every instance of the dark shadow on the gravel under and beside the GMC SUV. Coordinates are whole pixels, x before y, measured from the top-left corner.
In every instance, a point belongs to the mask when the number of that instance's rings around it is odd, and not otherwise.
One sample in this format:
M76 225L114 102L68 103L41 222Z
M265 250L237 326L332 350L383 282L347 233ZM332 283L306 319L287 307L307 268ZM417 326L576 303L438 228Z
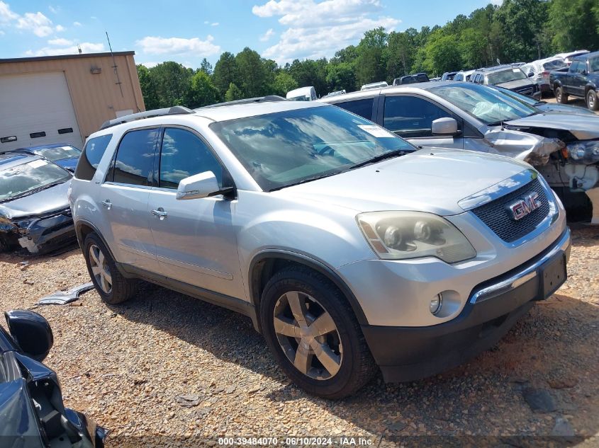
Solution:
M273 402L305 398L385 440L474 435L486 446L484 435L502 436L491 437L492 446L525 447L548 446L539 437L556 436L556 446L572 446L599 432L599 307L565 295L539 302L469 364L408 384L386 385L379 376L343 401L289 384L250 320L232 311L150 285L111 309L274 379L280 388L263 393ZM503 440L508 435L526 442Z

